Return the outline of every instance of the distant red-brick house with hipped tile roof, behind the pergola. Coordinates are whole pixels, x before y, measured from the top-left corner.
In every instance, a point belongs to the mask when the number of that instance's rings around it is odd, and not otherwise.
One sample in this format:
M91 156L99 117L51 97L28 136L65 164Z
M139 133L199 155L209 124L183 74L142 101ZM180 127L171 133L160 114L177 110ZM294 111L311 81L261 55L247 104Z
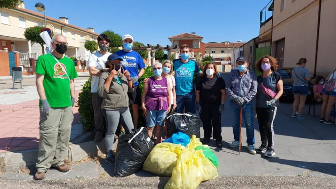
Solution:
M191 58L197 60L203 59L203 56L205 55L205 43L202 42L202 36L195 35L195 33L183 33L171 36L168 39L171 42L172 47L180 47L183 44L187 44L190 47ZM176 51L172 51L172 53L176 53Z

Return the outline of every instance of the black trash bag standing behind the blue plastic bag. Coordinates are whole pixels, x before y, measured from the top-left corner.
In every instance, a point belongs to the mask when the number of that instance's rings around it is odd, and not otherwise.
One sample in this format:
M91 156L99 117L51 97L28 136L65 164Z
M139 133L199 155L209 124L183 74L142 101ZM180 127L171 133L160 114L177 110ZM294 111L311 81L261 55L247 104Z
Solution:
M196 135L201 137L200 133L201 120L193 113L170 113L167 115L167 133L166 137L171 137L174 133L182 132L190 138Z

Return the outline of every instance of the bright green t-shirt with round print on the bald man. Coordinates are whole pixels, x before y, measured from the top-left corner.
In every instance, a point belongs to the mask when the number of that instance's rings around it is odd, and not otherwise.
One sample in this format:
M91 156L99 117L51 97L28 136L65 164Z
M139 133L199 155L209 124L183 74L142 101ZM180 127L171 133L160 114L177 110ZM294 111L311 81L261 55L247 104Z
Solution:
M63 57L58 61L70 79L78 77L74 62L70 58ZM44 75L43 87L50 107L60 108L72 105L70 80L51 54L39 56L36 61L35 73ZM41 100L39 106L41 107Z

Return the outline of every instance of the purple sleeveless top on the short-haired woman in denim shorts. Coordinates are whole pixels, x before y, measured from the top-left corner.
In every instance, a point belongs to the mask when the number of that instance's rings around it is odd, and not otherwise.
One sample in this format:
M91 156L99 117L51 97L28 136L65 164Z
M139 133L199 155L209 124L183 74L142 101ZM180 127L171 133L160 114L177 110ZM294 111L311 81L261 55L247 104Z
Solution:
M167 89L166 78L156 80L154 77L148 79L148 92L146 95L145 107L147 110L167 110Z

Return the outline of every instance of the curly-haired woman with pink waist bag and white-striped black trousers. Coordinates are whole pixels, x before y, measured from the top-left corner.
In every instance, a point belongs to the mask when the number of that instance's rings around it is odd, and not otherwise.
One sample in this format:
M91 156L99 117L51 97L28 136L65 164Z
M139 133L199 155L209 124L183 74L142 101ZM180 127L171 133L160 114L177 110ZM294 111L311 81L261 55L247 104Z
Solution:
M283 93L283 82L278 69L277 59L263 56L256 62L256 68L262 75L258 77L256 94L256 112L259 123L261 146L256 149L267 157L275 155L273 122Z

